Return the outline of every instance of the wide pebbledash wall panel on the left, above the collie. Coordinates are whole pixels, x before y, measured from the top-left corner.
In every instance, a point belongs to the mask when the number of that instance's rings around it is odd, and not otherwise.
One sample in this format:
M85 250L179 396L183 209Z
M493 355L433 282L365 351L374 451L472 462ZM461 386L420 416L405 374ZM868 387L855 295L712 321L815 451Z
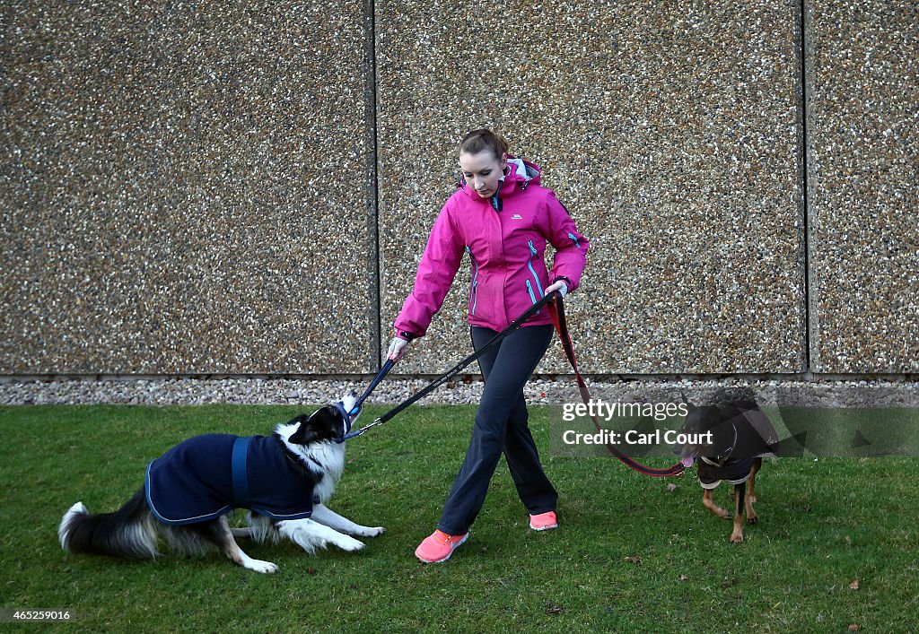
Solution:
M363 2L5 2L0 373L377 364Z

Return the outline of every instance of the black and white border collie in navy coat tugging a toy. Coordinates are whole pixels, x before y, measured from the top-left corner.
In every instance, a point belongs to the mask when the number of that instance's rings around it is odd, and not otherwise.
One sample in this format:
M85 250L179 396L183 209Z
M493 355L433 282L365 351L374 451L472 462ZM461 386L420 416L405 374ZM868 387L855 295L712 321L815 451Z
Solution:
M144 486L118 511L89 515L82 503L63 516L63 549L130 560L159 556L159 538L176 552L200 556L216 547L255 572L277 572L246 555L234 538L289 538L309 553L330 544L359 550L349 536L373 538L382 526L360 526L325 506L345 467L342 442L357 415L354 393L309 416L278 425L271 436L194 436L153 460ZM247 527L228 515L249 509Z

